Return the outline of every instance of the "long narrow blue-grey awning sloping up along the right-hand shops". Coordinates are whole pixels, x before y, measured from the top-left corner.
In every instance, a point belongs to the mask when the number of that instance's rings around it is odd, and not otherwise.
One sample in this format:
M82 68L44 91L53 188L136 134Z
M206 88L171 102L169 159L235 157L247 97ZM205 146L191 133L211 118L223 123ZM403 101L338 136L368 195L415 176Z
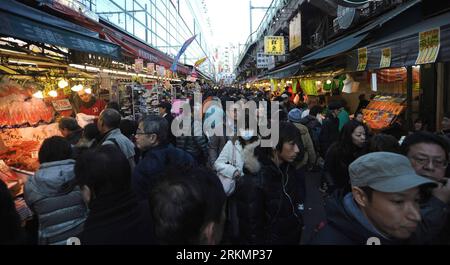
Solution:
M353 33L345 38L342 38L336 42L333 42L319 50L316 50L302 58L303 62L308 62L312 60L318 60L330 56L339 55L341 53L347 52L351 49L353 49L356 45L358 45L363 39L369 35L370 31L373 29L382 26L384 23L388 22L389 20L395 18L399 14L403 13L407 9L411 8L412 6L415 6L416 4L420 3L420 0L414 0L409 3L403 4L401 6L398 6L389 12L386 12L385 14L379 16L376 18L373 22L371 22L368 26L364 27L363 29L357 31L356 33Z

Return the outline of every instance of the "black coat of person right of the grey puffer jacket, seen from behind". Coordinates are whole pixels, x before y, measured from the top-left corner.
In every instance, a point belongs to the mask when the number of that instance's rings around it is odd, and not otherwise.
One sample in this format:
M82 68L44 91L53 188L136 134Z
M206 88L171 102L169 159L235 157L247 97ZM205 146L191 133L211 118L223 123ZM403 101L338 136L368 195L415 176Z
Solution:
M131 191L94 199L80 236L82 245L155 244L148 202Z

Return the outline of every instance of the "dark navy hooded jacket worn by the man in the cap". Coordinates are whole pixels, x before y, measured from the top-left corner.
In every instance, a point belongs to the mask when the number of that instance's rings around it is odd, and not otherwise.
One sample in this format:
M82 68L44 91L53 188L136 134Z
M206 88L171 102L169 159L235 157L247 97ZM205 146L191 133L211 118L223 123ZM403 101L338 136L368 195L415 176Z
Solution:
M354 202L352 193L333 193L327 201L325 211L327 224L318 231L312 245L366 245L369 238L378 238L381 245L407 243L386 238L377 231Z

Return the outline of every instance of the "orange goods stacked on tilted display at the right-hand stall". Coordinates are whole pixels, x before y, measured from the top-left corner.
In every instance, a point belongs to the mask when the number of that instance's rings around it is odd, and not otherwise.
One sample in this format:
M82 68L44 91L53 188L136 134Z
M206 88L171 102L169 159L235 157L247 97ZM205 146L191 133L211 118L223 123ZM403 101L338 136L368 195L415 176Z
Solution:
M375 131L386 129L405 111L405 101L405 95L378 95L363 109L364 121Z

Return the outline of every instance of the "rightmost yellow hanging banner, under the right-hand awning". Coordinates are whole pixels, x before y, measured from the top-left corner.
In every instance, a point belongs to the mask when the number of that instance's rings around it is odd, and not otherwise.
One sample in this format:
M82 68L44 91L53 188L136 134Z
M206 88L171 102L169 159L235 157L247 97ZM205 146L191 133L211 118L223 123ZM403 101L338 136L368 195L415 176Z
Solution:
M436 62L441 46L440 29L432 29L419 33L419 55L416 64Z

